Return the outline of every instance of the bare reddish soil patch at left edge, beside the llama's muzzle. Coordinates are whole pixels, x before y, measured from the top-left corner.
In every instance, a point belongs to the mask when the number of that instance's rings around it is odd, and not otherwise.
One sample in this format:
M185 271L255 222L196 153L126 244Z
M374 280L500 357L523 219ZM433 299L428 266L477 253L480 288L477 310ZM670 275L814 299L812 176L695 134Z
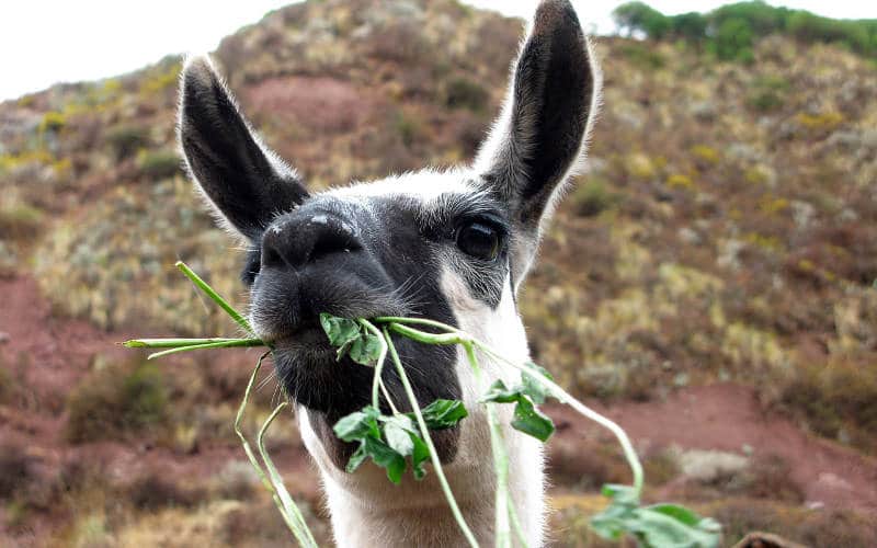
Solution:
M0 439L22 443L41 468L57 469L61 463L76 460L96 464L116 478L145 470L192 478L214 475L226 461L243 457L238 446L224 445L200 447L192 455L115 442L69 445L61 433L66 393L89 370L95 353L129 353L118 343L133 336L53 317L31 278L0 279L0 340L4 341L0 343L0 367L16 376L16 384L29 392L22 406L0 407ZM278 446L276 453L284 470L305 471L310 466L297 441ZM315 482L308 494L316 496L316 489Z

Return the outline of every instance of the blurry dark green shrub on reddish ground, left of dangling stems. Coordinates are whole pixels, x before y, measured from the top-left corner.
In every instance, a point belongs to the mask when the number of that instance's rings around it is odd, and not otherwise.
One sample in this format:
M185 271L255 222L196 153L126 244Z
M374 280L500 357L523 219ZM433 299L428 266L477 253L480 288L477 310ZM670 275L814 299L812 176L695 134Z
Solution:
M127 438L161 425L168 416L167 390L152 364L101 366L67 398L65 435L71 443Z

